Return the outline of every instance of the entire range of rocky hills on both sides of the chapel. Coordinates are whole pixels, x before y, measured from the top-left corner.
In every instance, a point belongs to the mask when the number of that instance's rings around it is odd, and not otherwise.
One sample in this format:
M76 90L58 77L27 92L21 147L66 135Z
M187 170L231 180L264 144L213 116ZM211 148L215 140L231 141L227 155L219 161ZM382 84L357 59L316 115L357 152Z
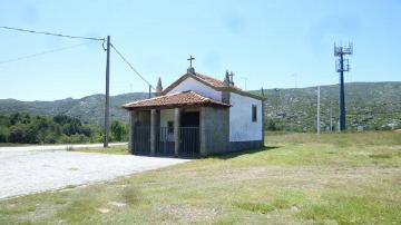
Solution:
M251 91L260 94L260 90ZM316 125L316 87L265 89L266 124L278 129L312 131ZM345 84L346 119L349 128L389 129L401 127L401 82ZM146 92L134 92L110 98L111 119L128 121L123 104L145 99ZM321 87L322 129L330 127L330 108L336 127L339 86ZM81 99L55 101L19 101L0 99L0 114L29 113L35 115L74 116L87 124L102 124L105 96L92 95Z

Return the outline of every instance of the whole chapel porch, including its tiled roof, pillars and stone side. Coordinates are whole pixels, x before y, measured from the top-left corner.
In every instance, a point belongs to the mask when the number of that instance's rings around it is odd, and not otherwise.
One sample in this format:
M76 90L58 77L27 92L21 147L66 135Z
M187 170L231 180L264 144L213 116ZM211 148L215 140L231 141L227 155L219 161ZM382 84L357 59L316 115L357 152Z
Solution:
M228 146L229 105L186 91L124 106L135 155L198 157Z

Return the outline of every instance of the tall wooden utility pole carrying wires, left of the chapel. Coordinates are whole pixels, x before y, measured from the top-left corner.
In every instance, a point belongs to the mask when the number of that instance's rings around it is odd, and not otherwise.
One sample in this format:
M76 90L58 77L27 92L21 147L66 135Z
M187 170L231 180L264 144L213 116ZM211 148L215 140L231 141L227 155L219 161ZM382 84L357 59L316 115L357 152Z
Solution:
M104 136L104 147L108 147L108 129L109 129L109 119L110 119L110 92L109 92L109 82L110 82L110 36L107 36L107 58L106 58L106 107L105 107L105 136Z

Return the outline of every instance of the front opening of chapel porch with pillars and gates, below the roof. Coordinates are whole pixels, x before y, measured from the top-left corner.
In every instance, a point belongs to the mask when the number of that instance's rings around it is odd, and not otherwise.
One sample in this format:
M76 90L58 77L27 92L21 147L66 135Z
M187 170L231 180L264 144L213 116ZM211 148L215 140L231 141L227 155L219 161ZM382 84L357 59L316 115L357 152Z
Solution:
M151 156L200 156L199 114L199 108L133 111L131 153Z

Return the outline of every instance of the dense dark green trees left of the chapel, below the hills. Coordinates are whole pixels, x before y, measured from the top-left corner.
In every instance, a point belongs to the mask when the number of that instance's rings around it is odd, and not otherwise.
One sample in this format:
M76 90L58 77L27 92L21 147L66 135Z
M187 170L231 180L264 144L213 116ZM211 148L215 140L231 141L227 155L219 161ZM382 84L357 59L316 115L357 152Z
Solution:
M127 126L113 121L110 141L127 140ZM19 144L66 144L101 143L102 129L84 125L78 118L66 115L32 116L29 114L0 115L0 143Z

